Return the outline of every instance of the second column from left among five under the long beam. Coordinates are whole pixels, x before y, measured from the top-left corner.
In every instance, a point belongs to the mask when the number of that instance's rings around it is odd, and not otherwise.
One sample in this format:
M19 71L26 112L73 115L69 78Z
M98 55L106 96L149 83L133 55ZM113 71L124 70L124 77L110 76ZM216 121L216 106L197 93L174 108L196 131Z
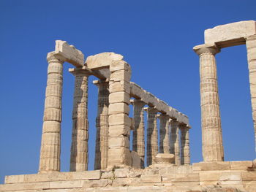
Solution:
M154 107L148 107L148 128L147 128L147 165L154 162L158 153L157 142L157 110Z

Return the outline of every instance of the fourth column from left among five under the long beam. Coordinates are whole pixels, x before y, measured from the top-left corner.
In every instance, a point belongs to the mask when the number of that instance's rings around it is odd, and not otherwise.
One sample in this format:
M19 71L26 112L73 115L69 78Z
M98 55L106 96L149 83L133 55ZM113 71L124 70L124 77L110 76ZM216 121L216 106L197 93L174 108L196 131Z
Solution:
M178 124L177 120L170 120L170 153L174 155L176 165L181 164Z

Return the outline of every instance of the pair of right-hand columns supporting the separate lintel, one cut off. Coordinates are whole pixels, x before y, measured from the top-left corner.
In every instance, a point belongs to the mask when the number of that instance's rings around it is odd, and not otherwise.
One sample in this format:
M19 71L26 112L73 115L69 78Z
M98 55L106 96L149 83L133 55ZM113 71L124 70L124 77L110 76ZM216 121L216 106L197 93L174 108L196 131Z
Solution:
M256 143L256 35L246 37L245 39L252 101L252 120L254 123ZM215 59L215 55L220 52L220 49L217 45L198 45L194 47L194 50L200 57L203 161L224 161L222 126L219 112L217 64Z

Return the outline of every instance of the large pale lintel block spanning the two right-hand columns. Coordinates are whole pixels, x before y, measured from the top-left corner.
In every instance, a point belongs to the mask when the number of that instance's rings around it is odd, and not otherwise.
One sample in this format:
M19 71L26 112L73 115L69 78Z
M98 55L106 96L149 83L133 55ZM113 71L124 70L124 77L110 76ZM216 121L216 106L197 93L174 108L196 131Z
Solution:
M229 23L205 30L205 43L217 43L220 47L229 47L245 43L244 37L256 34L255 20Z

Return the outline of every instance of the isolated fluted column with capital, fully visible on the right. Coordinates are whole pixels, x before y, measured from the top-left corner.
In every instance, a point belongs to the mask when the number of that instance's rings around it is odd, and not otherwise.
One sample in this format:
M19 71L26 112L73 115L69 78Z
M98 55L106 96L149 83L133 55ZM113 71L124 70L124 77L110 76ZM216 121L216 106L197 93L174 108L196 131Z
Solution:
M219 113L216 46L194 47L200 57L200 97L203 140L203 161L224 161L222 128Z

